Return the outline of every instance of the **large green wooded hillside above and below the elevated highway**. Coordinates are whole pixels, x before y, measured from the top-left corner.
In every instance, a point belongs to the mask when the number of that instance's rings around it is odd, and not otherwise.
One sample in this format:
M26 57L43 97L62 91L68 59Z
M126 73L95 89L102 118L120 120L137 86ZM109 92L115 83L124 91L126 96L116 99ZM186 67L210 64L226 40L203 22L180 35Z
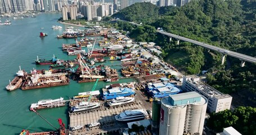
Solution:
M208 52L187 42L177 45L175 39L169 42L168 37L150 33L154 30L147 31L151 25L213 46L256 56L255 7L255 0L199 0L183 7L160 8L150 3L136 3L113 17L147 24L137 28L129 26L130 37L137 41L156 42L163 48L164 59L185 74L208 70L208 83L221 92L236 93L246 89L256 93L256 64L246 62L245 67L240 68L239 60L227 57L226 65L221 65L221 53Z

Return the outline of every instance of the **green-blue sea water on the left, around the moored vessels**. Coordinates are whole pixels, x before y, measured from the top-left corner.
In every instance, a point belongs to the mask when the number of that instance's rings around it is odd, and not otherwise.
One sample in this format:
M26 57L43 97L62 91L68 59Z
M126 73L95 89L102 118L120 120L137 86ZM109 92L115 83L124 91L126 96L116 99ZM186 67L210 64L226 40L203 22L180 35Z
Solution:
M21 16L20 16L21 17ZM76 56L68 56L62 52L62 43L74 43L74 39L57 39L57 34L61 34L69 25L62 25L57 22L61 13L41 13L37 17L16 19L10 26L0 25L0 134L19 134L22 129L28 129L30 132L53 131L54 128L47 124L37 114L29 111L33 102L47 98L69 97L78 95L79 92L91 91L92 83L77 83L70 81L69 86L59 86L42 89L31 89L22 91L6 91L5 87L9 79L12 80L16 72L21 69L30 72L35 69L49 69L47 65L35 65L37 59L50 60L53 54L62 60L71 60ZM1 21L7 18L2 17ZM52 30L52 25L62 26L62 30ZM41 29L44 28L44 29ZM74 29L84 29L74 26ZM47 33L48 36L39 38L40 32ZM99 48L96 45L96 48ZM109 61L103 64L119 64L120 61ZM120 69L120 66L113 66ZM113 68L112 67L112 68ZM131 82L134 79L120 79L119 82ZM98 82L96 89L105 87L110 83ZM51 124L59 128L57 122L61 118L66 124L69 124L68 107L55 109L39 110L39 114L44 116Z

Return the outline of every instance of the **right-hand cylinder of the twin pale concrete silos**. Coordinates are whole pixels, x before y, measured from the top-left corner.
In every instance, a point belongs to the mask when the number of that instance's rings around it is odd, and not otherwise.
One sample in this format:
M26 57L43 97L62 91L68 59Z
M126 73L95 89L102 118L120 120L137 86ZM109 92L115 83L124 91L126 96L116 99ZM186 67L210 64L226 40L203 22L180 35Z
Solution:
M204 120L205 120L205 113L207 108L207 99L202 97L201 102L196 102L195 104L191 104L192 111L192 119L190 122L190 133L199 133L203 134L204 128Z

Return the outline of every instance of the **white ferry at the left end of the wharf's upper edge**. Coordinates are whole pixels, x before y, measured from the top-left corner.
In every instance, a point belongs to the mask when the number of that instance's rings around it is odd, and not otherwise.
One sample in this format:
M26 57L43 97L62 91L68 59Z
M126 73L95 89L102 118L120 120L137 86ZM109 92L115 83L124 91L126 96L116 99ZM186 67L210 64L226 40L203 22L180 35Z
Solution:
M95 109L97 107L100 107L99 102L80 102L78 105L75 105L74 107L72 107L71 110L73 112L86 111L90 109Z

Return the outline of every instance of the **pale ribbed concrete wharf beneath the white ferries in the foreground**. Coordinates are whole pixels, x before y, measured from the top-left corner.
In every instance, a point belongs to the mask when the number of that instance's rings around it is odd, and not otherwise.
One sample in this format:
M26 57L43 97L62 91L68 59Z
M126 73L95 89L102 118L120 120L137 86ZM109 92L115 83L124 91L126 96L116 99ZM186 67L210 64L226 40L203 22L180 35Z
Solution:
M115 115L122 113L124 110L145 109L140 101L134 101L129 104L107 107L101 104L100 107L92 110L81 111L78 113L69 113L69 127L77 125L84 126L77 131L71 131L70 134L100 134L102 132L118 131L120 128L127 127L125 122L115 120ZM99 122L100 128L88 129L87 125Z

